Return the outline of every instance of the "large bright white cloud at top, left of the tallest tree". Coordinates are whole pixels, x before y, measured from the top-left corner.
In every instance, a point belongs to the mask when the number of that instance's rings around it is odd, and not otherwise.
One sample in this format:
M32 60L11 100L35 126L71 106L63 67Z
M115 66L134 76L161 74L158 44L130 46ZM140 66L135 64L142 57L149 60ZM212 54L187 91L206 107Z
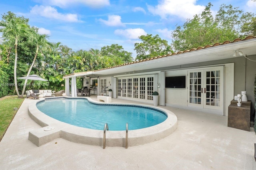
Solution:
M160 0L157 6L148 5L148 11L165 19L168 16L178 16L183 19L193 18L200 14L205 6L196 5L196 0Z

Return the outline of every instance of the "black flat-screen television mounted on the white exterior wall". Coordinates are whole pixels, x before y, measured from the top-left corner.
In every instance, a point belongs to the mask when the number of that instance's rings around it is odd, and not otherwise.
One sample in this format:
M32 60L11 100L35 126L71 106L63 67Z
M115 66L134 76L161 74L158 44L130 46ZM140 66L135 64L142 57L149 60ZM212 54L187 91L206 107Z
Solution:
M165 88L186 88L186 76L166 77Z

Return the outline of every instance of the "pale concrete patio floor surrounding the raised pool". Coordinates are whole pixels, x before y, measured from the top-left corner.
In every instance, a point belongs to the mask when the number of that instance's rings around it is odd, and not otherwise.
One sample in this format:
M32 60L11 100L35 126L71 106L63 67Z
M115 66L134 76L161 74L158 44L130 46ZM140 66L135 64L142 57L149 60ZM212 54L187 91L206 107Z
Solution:
M164 107L176 114L178 127L160 141L102 149L58 138L37 147L28 140L28 132L40 128L28 115L30 102L24 100L0 142L1 170L256 170L254 129L227 127L228 117ZM114 98L112 102L132 103Z

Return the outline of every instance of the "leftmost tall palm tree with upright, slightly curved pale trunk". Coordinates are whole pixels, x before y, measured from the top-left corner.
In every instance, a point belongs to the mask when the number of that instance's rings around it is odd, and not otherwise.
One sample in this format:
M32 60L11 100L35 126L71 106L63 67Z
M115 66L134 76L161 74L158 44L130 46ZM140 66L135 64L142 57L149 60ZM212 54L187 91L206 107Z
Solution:
M17 85L17 60L18 60L18 41L22 36L26 34L28 29L28 19L24 17L16 17L12 12L2 15L2 21L0 21L0 32L3 32L3 37L11 42L14 42L15 60L14 60L14 85L18 97L21 97L18 91ZM23 97L23 96L22 96Z

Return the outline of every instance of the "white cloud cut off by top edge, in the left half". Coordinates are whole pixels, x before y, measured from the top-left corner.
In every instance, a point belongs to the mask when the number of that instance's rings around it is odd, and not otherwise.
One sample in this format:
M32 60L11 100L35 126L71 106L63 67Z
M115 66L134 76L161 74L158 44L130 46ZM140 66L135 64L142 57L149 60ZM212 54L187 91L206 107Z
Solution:
M45 5L58 6L60 8L68 8L74 5L84 4L92 8L102 8L110 5L109 0L37 0Z

